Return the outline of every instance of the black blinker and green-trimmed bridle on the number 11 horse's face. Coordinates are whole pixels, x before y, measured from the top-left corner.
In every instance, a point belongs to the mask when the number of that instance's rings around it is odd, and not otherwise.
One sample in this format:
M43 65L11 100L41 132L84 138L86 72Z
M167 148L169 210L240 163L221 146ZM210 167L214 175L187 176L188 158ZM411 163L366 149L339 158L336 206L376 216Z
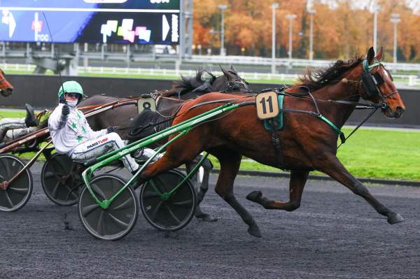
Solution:
M381 109L388 108L388 103L386 102L386 99L392 96L395 93L398 93L398 90L395 90L394 92L391 92L390 94L384 95L381 93L381 90L379 90L379 86L383 85L385 83L384 79L381 77L379 72L372 74L370 71L374 69L374 67L380 67L384 66L380 61L375 60L371 65L367 65L367 59L363 60L363 73L360 80L360 85L363 84L365 87L366 93L368 96L372 97L374 95L378 95L379 98L381 98ZM391 80L393 80L391 73L388 72L388 70L384 70L388 73Z

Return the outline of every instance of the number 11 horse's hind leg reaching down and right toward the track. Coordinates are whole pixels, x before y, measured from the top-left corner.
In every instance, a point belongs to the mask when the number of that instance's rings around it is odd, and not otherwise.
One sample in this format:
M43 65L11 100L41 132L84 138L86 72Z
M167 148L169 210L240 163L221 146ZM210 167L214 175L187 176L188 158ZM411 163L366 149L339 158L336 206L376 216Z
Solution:
M241 206L233 194L233 183L241 165L241 155L230 150L212 152L221 163L221 172L216 183L216 193L219 194L233 209L241 216L242 220L248 224L248 233L251 236L261 237L260 228L253 220L251 214Z

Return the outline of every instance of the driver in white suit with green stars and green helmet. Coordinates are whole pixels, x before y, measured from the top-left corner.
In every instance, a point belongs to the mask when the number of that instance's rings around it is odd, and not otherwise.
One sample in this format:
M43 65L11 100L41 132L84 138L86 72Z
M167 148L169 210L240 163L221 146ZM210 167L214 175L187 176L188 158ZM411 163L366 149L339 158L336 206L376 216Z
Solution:
M76 81L66 81L58 91L59 105L51 113L48 128L52 142L59 154L66 154L78 162L99 157L106 152L123 148L123 140L114 132L113 127L92 131L85 115L76 106L83 98L83 89ZM124 166L132 173L139 164L127 155Z

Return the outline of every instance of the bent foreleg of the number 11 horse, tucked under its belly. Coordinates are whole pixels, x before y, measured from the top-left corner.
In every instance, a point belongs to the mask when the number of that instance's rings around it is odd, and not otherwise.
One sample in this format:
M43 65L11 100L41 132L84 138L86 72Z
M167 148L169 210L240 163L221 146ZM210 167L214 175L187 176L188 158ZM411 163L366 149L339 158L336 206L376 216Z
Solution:
M300 199L309 171L291 171L289 183L289 201L271 201L264 196L260 191L253 191L246 196L246 199L255 203L260 203L261 206L267 209L281 209L293 211L300 206Z

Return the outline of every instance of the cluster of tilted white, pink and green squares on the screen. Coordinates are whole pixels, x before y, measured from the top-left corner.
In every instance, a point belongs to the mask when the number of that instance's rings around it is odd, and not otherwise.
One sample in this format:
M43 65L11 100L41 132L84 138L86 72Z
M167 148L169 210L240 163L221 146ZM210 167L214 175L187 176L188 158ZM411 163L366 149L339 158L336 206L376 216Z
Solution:
M130 41L130 43L134 43L135 36L139 36L140 40L146 42L151 40L151 30L144 26L137 26L133 30L133 24L134 20L130 18L125 18L121 26L118 26L118 20L108 20L101 27L102 42L106 43L107 37L110 37L112 32L117 32L118 36L122 36L124 40Z

